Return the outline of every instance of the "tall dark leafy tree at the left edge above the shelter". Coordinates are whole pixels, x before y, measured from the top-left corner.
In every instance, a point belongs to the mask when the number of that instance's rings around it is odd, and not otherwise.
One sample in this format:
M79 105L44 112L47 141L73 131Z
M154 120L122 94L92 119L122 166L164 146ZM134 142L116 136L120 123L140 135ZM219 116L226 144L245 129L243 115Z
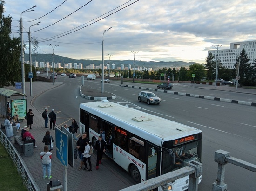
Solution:
M0 1L0 87L21 81L20 38L10 37L12 17L4 16L4 3Z

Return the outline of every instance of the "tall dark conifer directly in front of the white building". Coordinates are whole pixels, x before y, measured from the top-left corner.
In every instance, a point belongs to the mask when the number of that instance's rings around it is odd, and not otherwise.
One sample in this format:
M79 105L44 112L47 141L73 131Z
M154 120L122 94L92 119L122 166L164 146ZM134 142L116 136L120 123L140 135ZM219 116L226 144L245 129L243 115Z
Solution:
M236 74L237 76L237 71L238 68L236 67L237 64L239 64L239 83L240 83L240 87L242 87L242 85L245 85L246 83L248 83L249 81L249 70L250 70L250 58L248 57L246 51L243 49L240 52L239 57L236 59L236 64L234 65L234 69L233 69L233 73Z

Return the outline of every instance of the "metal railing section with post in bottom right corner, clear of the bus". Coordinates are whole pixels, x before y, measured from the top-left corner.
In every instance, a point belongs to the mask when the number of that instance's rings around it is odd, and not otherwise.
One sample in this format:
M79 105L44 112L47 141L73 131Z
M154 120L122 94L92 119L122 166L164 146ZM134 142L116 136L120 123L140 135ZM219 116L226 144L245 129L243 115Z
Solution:
M217 150L214 154L214 161L218 163L218 174L216 182L212 184L212 191L227 191L228 185L224 183L224 179L226 169L225 165L228 163L256 172L256 165L231 157L227 151Z

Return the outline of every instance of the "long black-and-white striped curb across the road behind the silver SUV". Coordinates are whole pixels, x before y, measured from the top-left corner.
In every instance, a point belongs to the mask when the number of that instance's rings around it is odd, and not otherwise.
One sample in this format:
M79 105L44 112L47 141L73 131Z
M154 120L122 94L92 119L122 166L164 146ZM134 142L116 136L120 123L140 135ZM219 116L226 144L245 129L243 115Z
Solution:
M122 86L122 85L119 85L119 86ZM162 92L162 93L168 93L168 94L176 94L176 95L180 95L180 96L196 97L196 98L202 98L202 99L208 99L208 100L216 100L216 101L220 101L220 102L228 102L228 103L237 103L237 104L248 105L248 106L256 106L256 102L230 100L230 99L224 99L224 98L219 98L219 97L201 96L201 95L196 95L196 94L187 94L187 93L175 92L175 91L170 91L170 90L143 88L143 87L132 86L132 85L125 85L123 87L150 90L150 91L156 91L156 92Z

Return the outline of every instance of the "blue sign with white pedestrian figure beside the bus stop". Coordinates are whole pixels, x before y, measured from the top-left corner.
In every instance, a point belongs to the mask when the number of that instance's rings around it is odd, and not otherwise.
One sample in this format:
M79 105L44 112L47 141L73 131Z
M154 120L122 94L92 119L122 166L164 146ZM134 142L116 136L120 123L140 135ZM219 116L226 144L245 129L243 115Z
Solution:
M68 135L58 128L55 128L56 156L62 165L68 166Z

